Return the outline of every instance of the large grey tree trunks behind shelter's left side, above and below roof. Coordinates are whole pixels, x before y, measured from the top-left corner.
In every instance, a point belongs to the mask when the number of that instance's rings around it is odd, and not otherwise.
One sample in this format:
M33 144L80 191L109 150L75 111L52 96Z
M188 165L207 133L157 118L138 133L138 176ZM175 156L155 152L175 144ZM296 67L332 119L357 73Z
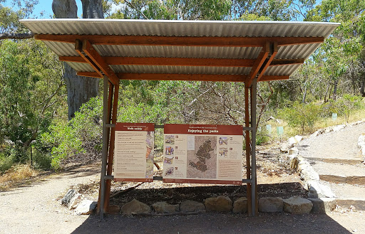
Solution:
M83 1L83 6L84 6ZM93 18L94 16L103 16L103 8L96 7L101 5L101 0L87 1L86 16ZM97 10L100 11L97 13ZM77 18L77 5L75 0L53 0L52 11L56 18ZM91 11L91 12L89 12ZM85 13L84 13L85 14ZM85 18L85 17L84 17ZM103 18L103 17L100 17ZM75 116L75 112L80 110L83 103L88 102L91 97L98 96L98 78L88 78L76 75L76 71L67 63L64 63L65 73L63 79L67 88L67 104L68 104L68 119Z

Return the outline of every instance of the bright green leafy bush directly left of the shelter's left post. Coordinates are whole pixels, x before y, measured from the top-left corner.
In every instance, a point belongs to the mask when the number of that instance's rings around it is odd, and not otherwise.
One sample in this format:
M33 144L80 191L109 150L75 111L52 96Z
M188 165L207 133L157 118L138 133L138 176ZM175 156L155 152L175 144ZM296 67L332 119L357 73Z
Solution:
M41 135L38 149L51 154L53 169L61 169L69 161L92 161L100 154L102 110L102 101L92 98L70 122L55 120L49 132Z

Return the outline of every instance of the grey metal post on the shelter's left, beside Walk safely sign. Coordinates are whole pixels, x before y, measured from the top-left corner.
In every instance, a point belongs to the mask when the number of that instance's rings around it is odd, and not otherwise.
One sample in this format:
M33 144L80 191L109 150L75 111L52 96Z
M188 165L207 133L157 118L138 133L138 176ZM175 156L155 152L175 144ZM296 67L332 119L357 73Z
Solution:
M103 86L103 148L101 157L101 197L100 197L100 217L104 217L104 196L106 190L106 158L108 154L108 87L109 79L104 75L104 86Z

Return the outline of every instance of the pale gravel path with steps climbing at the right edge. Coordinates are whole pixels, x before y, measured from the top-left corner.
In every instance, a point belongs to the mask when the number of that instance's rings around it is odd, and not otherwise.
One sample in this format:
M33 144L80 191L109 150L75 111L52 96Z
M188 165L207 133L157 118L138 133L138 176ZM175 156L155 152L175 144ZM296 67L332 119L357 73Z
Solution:
M365 210L365 164L357 142L365 123L309 137L297 146L308 159L322 183L336 195L340 206Z

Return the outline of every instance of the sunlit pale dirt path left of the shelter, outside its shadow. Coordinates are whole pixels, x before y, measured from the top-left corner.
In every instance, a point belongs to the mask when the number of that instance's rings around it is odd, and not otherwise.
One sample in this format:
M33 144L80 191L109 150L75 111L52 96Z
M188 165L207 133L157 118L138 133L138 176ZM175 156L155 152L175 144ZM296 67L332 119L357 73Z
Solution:
M73 216L56 198L72 185L99 176L81 168L49 176L29 186L0 192L0 233L72 233L88 217Z

